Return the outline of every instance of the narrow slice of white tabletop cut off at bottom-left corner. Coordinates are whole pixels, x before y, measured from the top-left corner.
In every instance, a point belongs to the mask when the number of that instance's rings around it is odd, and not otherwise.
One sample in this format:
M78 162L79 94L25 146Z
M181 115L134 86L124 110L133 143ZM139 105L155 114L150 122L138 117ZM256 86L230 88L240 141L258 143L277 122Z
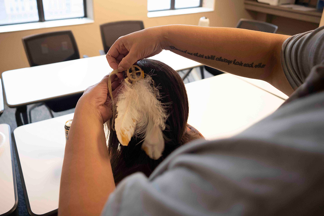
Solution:
M0 124L0 215L12 213L17 205L18 194L10 126Z

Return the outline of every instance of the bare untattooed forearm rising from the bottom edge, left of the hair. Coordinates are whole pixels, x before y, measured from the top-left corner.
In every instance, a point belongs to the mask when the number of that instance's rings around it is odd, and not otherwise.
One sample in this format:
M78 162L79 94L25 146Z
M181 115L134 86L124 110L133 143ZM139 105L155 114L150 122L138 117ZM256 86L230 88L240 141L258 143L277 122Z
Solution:
M103 123L75 110L65 146L59 215L99 215L115 189Z

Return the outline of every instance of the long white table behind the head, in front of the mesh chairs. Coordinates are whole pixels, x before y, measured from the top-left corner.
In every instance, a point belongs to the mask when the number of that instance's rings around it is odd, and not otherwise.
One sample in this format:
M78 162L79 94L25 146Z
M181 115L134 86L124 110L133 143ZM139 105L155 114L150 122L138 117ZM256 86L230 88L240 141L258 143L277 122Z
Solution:
M202 65L166 50L151 58L177 71ZM104 55L5 71L2 79L6 103L19 107L82 93L111 71Z

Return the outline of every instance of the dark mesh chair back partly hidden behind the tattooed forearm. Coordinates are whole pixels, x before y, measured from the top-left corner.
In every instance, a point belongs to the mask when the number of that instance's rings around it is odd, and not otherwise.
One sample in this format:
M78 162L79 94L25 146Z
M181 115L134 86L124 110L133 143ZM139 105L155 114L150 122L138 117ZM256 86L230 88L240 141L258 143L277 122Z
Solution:
M236 28L244 28L255 31L263 31L269 33L276 33L278 30L278 26L273 25L271 23L262 22L253 19L240 19L237 23Z

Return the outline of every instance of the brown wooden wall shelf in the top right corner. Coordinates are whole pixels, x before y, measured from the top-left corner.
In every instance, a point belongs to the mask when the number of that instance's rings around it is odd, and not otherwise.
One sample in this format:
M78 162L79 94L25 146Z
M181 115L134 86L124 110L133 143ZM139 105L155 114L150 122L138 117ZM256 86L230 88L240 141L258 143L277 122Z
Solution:
M244 0L244 8L246 10L257 11L280 17L288 17L312 23L319 23L322 17L322 12L318 11L298 11L291 8L271 6L251 0Z

